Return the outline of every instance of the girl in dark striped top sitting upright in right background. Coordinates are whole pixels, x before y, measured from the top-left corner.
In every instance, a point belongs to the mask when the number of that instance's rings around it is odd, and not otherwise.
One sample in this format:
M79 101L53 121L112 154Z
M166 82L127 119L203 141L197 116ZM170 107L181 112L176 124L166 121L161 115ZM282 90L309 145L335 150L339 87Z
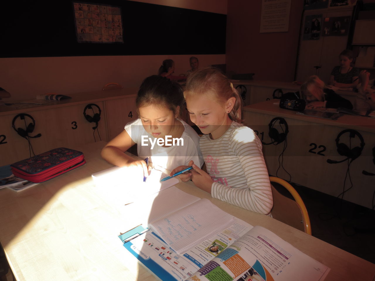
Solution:
M340 65L332 69L328 85L333 85L338 88L355 88L359 81L359 69L352 67L353 52L344 50L339 55Z

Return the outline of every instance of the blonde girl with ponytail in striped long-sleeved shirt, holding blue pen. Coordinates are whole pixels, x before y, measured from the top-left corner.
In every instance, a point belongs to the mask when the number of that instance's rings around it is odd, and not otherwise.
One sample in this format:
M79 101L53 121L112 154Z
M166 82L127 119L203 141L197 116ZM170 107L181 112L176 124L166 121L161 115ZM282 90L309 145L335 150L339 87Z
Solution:
M190 120L205 134L199 145L208 173L190 161L193 170L180 179L192 179L214 198L269 214L273 200L262 144L240 124L242 99L229 79L215 68L198 69L187 78L184 96Z

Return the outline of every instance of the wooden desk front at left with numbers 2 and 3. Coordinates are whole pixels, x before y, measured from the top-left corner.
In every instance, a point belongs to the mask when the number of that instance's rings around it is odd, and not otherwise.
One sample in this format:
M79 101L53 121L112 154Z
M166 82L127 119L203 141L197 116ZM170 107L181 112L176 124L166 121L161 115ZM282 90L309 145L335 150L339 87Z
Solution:
M41 134L40 138L30 138L30 143L35 154L51 150L57 147L71 148L85 143L91 143L102 140L107 140L106 132L106 118L104 114L103 102L96 103L102 110L99 121L98 130L93 130L95 123L89 123L83 115L86 104L50 108L40 111L32 111L24 113L30 114L35 120L35 127L29 136ZM86 110L86 114L91 117L98 112L98 109L93 108ZM18 135L12 128L12 120L17 114L10 114L1 117L0 124L0 166L11 164L16 161L23 160L30 157L29 143L27 139ZM20 117L15 121L16 129L18 127L26 130L27 125L31 120L26 117L26 125L24 120ZM100 138L99 138L100 135ZM95 136L95 138L94 138ZM31 151L31 155L33 155Z

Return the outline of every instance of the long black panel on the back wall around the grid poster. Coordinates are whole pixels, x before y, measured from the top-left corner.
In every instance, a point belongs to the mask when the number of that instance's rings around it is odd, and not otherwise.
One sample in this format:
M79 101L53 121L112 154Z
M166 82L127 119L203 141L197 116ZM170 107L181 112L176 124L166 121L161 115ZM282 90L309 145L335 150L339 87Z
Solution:
M124 43L78 43L72 1L5 1L1 57L225 54L226 15L126 0L87 3L121 7Z

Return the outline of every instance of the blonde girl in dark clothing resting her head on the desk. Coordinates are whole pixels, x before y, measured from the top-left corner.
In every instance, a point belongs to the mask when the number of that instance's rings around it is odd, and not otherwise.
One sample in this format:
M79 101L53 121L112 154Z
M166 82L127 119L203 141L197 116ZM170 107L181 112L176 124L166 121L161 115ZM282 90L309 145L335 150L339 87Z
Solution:
M306 109L314 108L347 108L353 109L353 105L347 99L339 96L330 88L327 88L318 76L310 76L301 85L302 97L306 100Z

